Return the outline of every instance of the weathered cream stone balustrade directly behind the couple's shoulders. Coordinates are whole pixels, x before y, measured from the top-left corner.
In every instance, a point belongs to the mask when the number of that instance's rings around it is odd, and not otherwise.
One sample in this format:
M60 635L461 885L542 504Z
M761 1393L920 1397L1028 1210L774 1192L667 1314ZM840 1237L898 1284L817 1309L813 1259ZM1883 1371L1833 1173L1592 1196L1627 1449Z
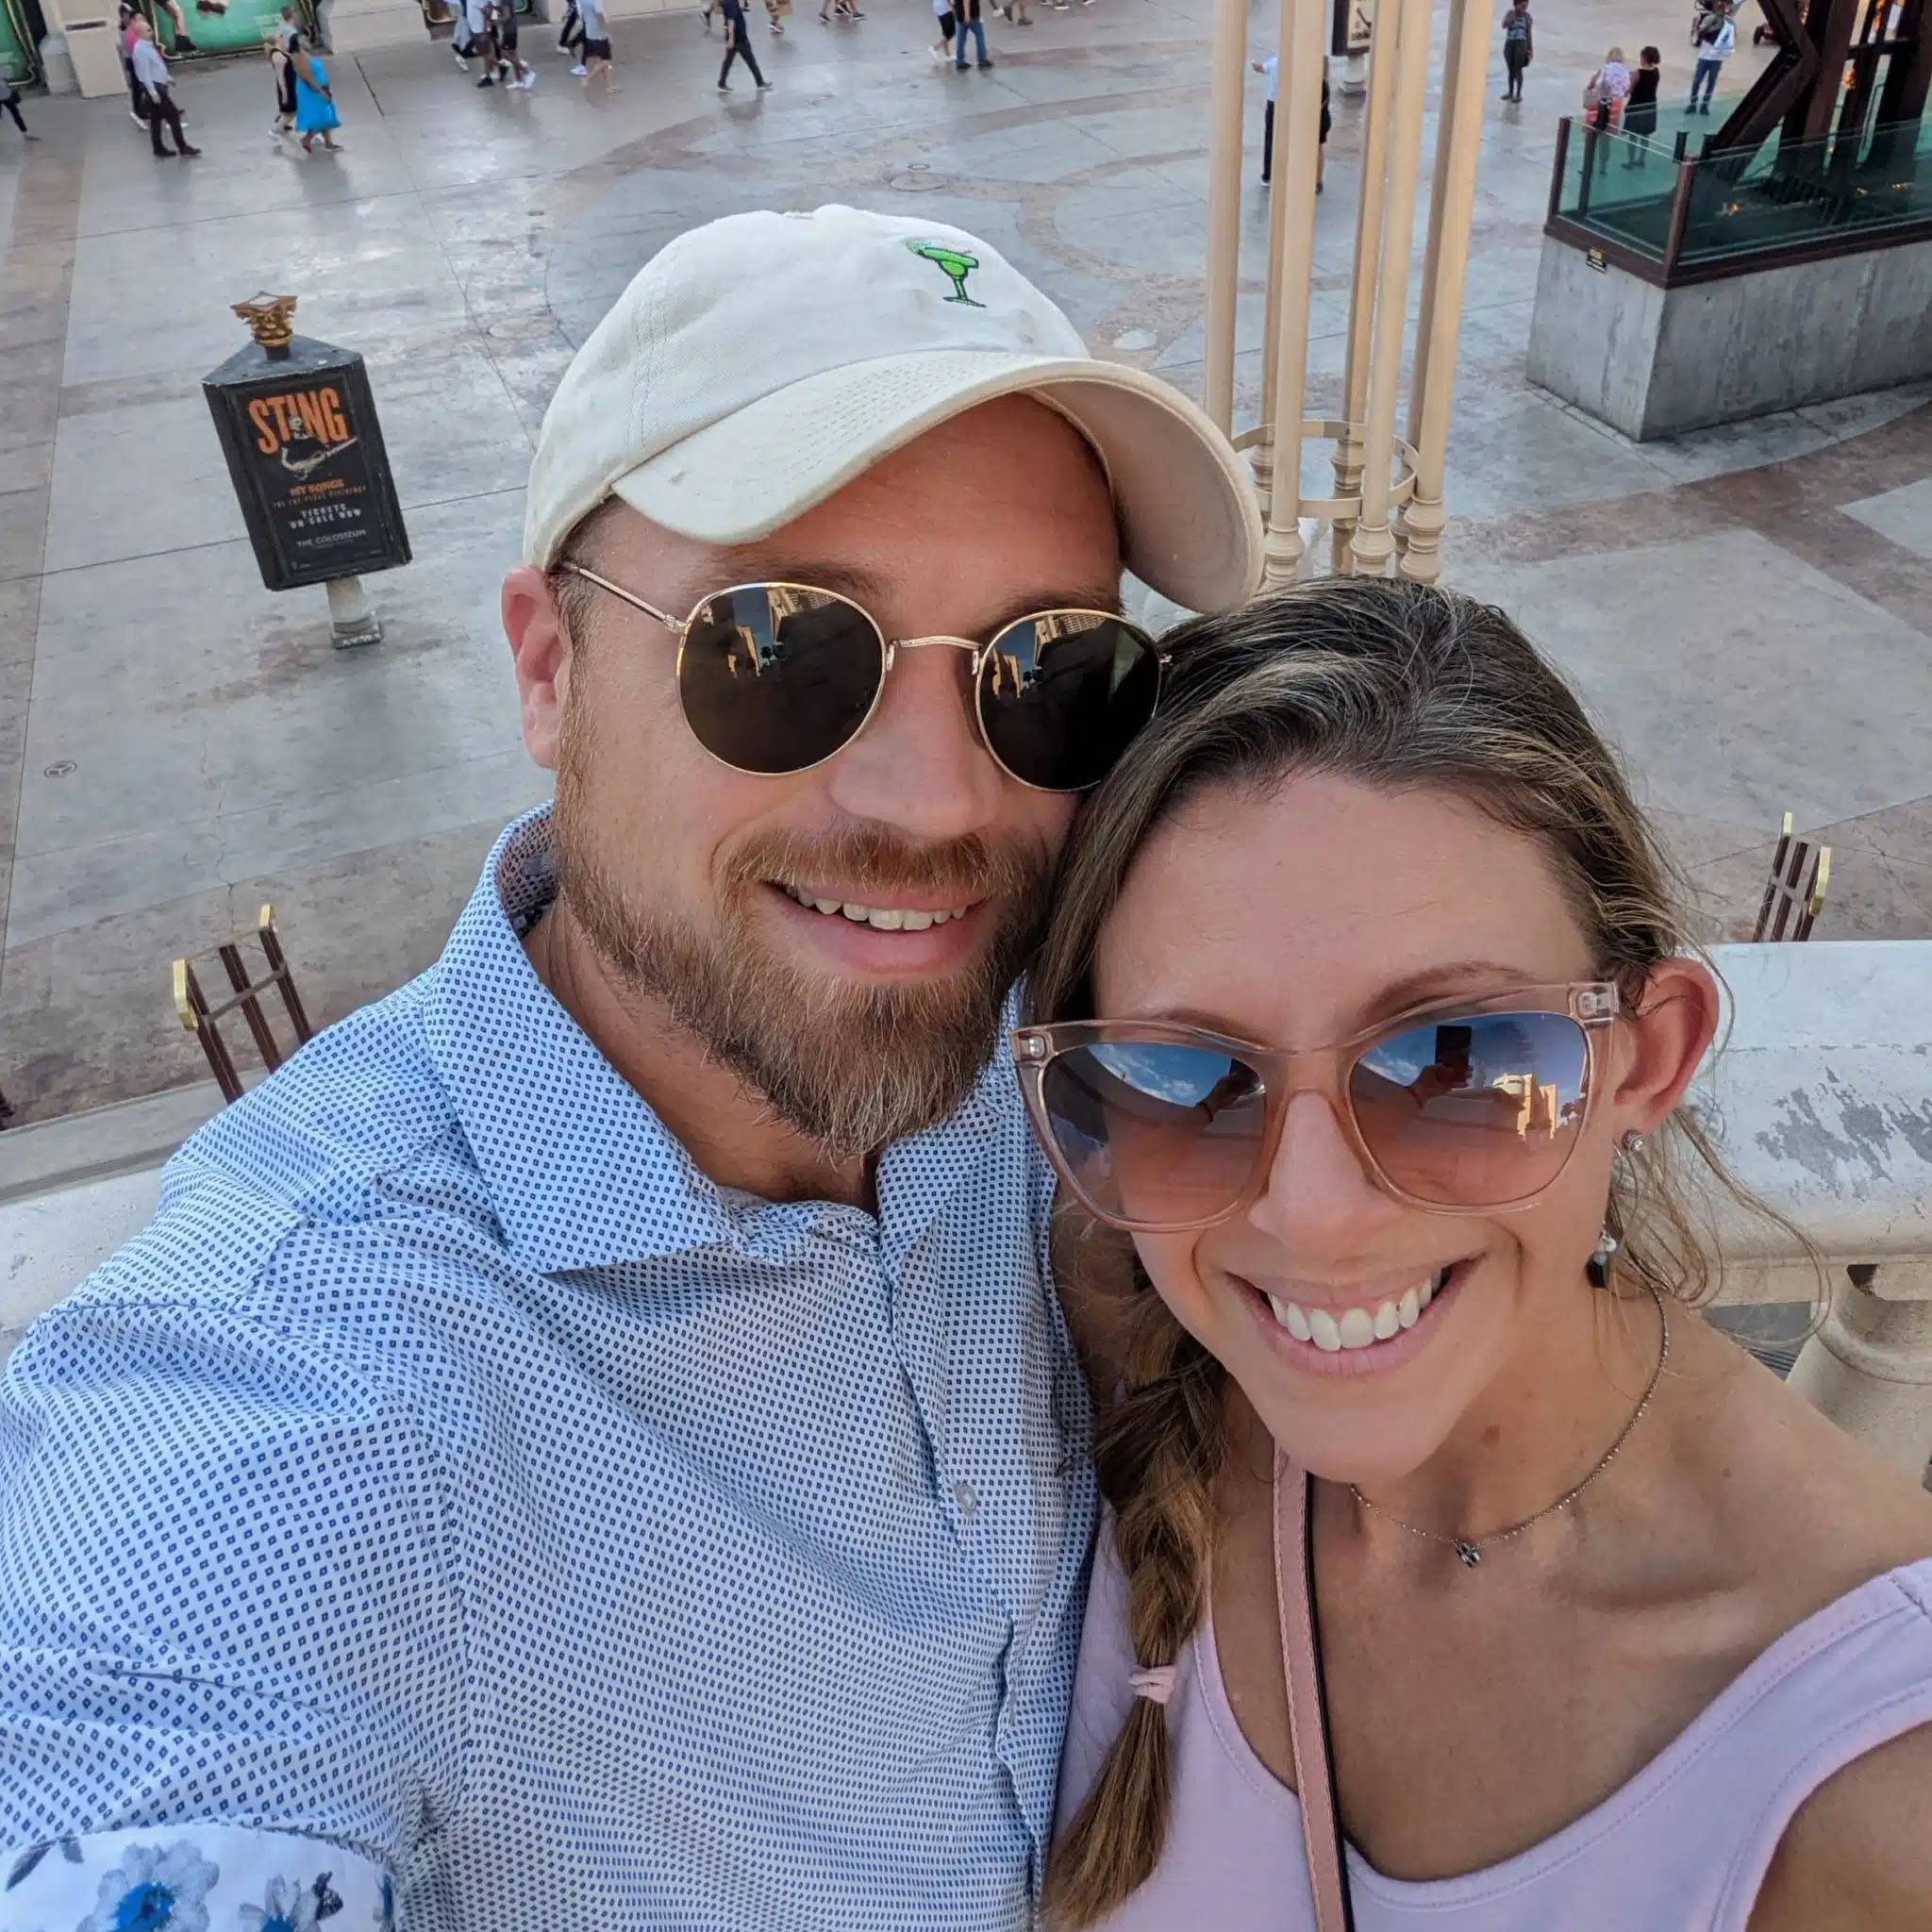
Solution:
M1716 962L1727 1037L1696 1097L1737 1179L1826 1264L1828 1306L1793 1385L1918 1474L1932 1455L1932 941L1718 947ZM35 1132L0 1134L0 1350L155 1206L153 1159L8 1198L10 1144ZM1776 1225L1719 1204L1718 1238L1719 1300L1820 1298L1816 1264Z

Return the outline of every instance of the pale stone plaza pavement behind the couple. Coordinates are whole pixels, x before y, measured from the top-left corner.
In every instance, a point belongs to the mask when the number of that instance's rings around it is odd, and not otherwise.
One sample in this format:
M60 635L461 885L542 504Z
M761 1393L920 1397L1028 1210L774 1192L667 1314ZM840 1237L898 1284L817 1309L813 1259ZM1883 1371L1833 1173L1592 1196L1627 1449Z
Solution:
M1837 848L1820 937L1932 933L1932 388L1648 446L1530 388L1557 114L1609 41L1665 48L1667 100L1689 77L1677 0L1538 12L1528 102L1497 83L1488 110L1447 582L1567 667L1710 929L1748 923L1789 808ZM29 149L0 126L0 1090L21 1119L205 1078L168 962L263 900L319 1020L435 956L497 829L545 792L495 611L543 406L678 230L827 199L956 220L1099 352L1198 390L1206 0L989 31L997 70L954 75L927 60L927 0L835 27L806 8L782 41L753 25L775 91L740 73L721 99L696 15L620 21L609 100L541 25L531 95L475 91L417 37L334 64L332 160L276 149L257 62L182 73L199 162L151 160L120 100L29 100ZM1250 81L1250 145L1260 114ZM1358 135L1337 91L1316 413ZM1264 209L1250 180L1248 415ZM269 595L242 537L199 381L257 290L369 359L415 549L371 580L375 651L332 651L321 593Z

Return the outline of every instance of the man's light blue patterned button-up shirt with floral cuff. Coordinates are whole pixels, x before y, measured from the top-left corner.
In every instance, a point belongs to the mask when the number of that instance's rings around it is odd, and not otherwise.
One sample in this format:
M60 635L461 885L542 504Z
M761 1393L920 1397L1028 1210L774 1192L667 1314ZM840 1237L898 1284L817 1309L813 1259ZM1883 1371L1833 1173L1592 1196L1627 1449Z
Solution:
M8 1366L0 1932L1030 1920L1094 1476L1005 1057L877 1217L721 1192L549 896L539 811Z

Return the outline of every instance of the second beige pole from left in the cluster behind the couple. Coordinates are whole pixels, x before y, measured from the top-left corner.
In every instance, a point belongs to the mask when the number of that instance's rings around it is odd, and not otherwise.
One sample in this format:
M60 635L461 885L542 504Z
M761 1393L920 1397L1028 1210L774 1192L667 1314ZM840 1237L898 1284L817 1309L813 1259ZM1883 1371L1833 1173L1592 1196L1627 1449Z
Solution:
M1291 583L1302 562L1302 417L1308 412L1308 294L1316 270L1321 162L1321 43L1327 0L1281 0L1275 187L1281 216L1281 336L1275 344L1275 468L1262 582Z

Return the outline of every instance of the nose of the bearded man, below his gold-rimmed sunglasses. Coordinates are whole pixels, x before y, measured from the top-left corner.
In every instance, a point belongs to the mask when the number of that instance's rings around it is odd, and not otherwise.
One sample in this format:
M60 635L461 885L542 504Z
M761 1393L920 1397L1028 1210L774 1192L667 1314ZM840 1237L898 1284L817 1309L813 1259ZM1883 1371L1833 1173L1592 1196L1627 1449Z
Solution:
M871 723L827 767L840 811L920 838L962 838L999 815L1009 779L972 709L972 655L900 645Z

